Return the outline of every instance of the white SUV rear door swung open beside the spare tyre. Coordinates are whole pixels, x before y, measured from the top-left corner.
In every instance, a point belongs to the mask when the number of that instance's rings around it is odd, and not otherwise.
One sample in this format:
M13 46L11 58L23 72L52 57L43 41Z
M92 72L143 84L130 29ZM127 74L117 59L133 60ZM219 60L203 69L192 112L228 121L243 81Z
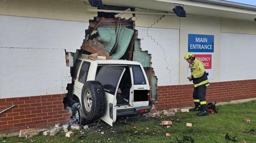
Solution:
M116 121L116 93L124 71L125 67L102 65L95 77L103 85L107 101L106 111L101 119L110 126Z

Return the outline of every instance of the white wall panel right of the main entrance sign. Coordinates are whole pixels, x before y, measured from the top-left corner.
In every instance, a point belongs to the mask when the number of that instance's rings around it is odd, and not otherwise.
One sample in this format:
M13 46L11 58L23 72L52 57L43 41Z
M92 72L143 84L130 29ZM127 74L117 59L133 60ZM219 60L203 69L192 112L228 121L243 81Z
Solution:
M221 33L220 81L256 79L256 35Z

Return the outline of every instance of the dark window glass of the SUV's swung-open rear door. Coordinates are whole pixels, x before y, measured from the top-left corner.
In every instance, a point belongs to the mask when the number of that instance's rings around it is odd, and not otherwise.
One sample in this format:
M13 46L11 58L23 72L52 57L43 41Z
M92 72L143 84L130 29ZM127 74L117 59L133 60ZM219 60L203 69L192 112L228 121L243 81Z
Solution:
M99 69L95 80L101 82L106 92L115 94L118 81L124 70L125 67L103 65Z

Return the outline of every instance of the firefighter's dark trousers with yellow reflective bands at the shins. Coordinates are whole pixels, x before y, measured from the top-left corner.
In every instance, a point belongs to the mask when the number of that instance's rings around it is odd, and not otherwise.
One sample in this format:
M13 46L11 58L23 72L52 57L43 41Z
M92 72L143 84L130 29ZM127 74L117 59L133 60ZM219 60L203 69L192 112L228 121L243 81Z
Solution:
M206 85L200 85L198 87L194 87L193 91L193 99L195 107L200 107L201 111L207 111L207 103L206 103Z

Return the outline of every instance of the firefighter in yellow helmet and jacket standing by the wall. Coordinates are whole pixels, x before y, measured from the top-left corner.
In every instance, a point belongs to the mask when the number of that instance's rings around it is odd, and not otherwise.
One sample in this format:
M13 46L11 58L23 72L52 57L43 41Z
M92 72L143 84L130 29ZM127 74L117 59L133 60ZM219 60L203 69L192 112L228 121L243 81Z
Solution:
M204 64L200 60L197 60L196 57L190 52L185 55L184 59L189 63L191 70L191 75L187 78L189 81L193 81L194 83L193 99L195 107L192 108L192 110L200 110L197 115L206 116L208 115L206 87L208 87L210 84L204 69Z

